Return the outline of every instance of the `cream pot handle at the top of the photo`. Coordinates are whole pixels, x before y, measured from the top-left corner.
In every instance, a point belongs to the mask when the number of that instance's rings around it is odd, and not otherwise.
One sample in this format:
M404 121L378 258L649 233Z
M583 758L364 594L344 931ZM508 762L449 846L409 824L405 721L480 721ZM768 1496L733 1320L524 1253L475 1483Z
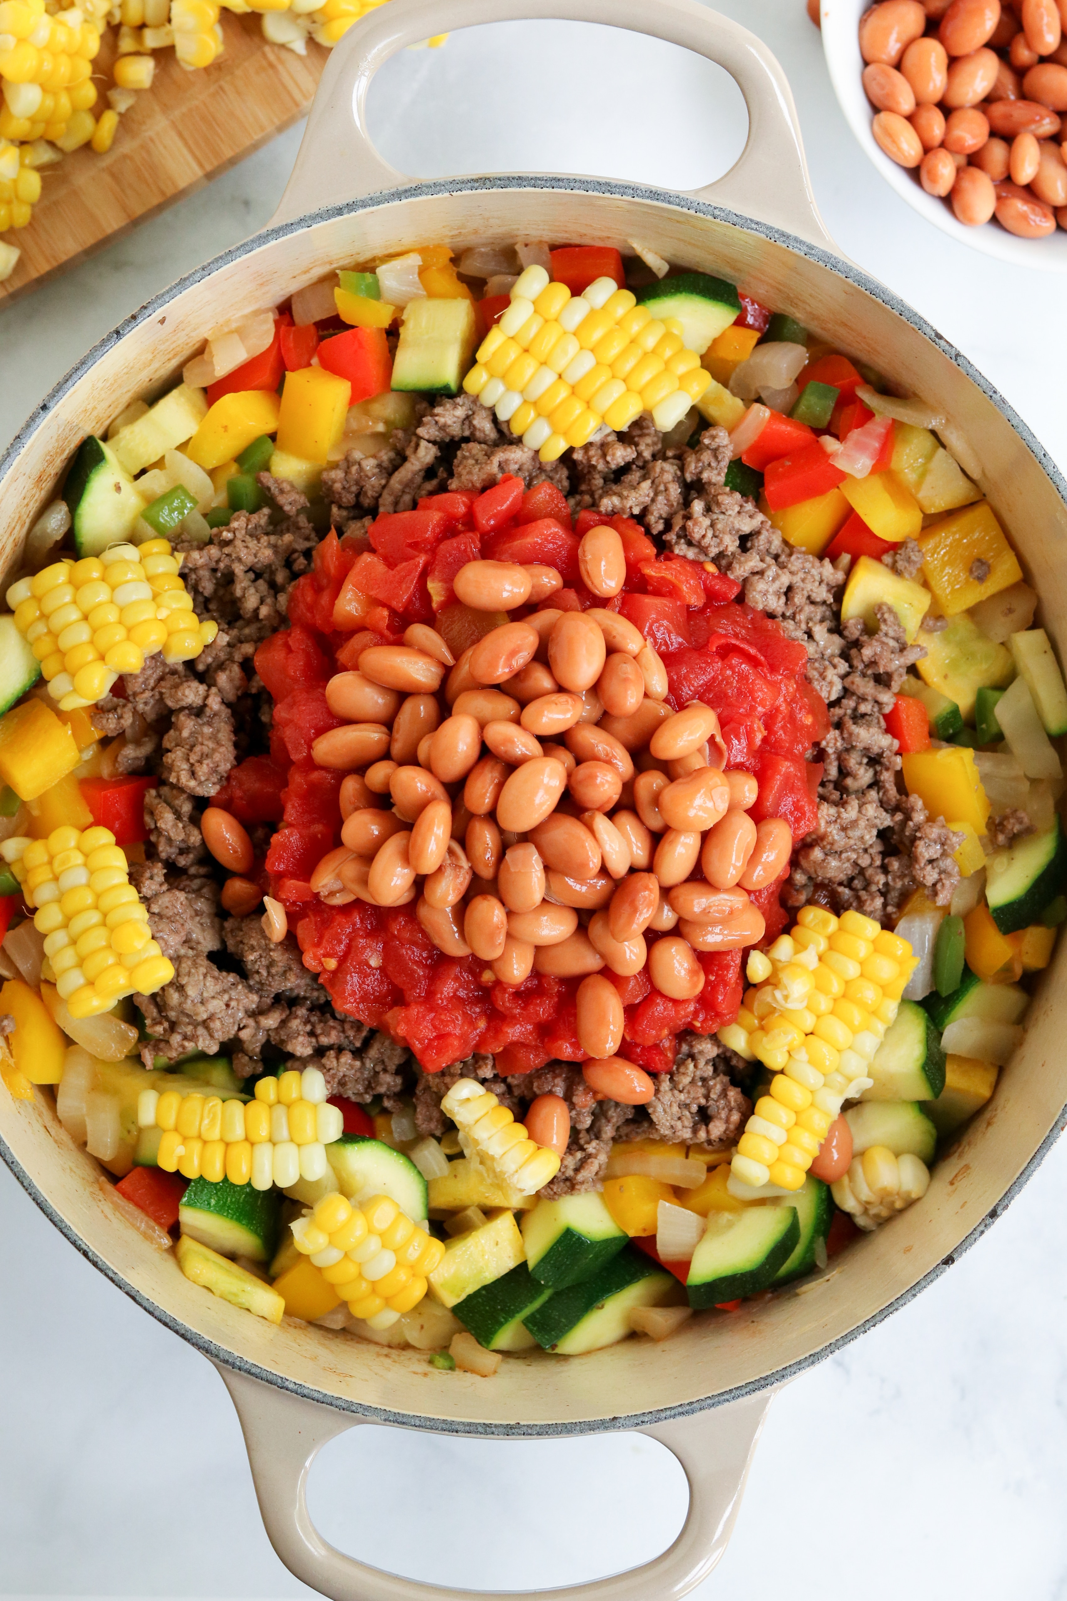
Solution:
M753 34L696 0L390 0L331 51L272 224L411 181L381 158L366 126L371 78L398 50L478 22L531 19L603 22L725 67L744 94L749 138L731 170L693 194L835 251L811 192L785 74Z

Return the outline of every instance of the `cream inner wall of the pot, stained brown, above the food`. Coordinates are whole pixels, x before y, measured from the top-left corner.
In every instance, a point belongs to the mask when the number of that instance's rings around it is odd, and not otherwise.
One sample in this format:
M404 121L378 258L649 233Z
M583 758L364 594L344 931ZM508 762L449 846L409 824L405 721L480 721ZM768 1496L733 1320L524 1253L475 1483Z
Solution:
M859 272L757 224L657 191L563 179L422 184L400 199L357 202L314 226L261 235L152 303L122 338L88 357L16 440L0 479L0 565L18 549L85 434L104 429L131 399L158 391L232 314L274 306L331 267L446 242L544 237L574 243L649 243L681 267L721 272L765 304L790 312L843 351L921 395L965 431L984 463L982 487L1009 530L1040 621L1067 647L1067 485L1040 447L1008 421L965 365L888 291ZM792 242L797 245L797 242ZM120 330L122 333L122 330ZM1040 419L1038 419L1040 421ZM1022 431L1025 432L1025 431ZM1048 469L1048 471L1046 471ZM1049 475L1051 474L1051 475ZM1025 1042L1001 1071L997 1095L934 1169L926 1198L832 1263L825 1282L693 1318L662 1345L627 1340L576 1359L509 1356L493 1380L438 1374L424 1354L363 1345L288 1321L274 1327L189 1284L170 1254L146 1244L112 1209L96 1164L38 1095L0 1093L0 1137L30 1193L122 1289L216 1359L366 1415L414 1426L518 1430L603 1428L688 1410L782 1377L851 1337L937 1271L1003 1201L1049 1137L1067 1103L1064 943L1027 1018Z

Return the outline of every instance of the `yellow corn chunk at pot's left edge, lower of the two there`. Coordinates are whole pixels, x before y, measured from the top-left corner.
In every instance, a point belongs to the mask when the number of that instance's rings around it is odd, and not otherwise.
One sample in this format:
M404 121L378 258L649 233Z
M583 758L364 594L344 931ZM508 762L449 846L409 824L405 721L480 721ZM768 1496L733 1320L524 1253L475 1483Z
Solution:
M0 853L35 906L34 927L72 1017L110 1012L122 996L154 994L174 969L152 938L125 852L106 828L54 828L48 839L5 839Z

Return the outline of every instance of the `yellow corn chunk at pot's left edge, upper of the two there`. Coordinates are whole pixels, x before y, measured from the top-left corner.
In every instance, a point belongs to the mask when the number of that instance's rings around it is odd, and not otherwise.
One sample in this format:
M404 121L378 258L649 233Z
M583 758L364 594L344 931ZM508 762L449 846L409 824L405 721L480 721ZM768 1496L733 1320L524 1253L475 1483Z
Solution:
M32 647L62 711L93 706L120 672L146 656L192 661L219 631L200 621L168 540L114 544L98 556L64 559L6 594L14 626Z

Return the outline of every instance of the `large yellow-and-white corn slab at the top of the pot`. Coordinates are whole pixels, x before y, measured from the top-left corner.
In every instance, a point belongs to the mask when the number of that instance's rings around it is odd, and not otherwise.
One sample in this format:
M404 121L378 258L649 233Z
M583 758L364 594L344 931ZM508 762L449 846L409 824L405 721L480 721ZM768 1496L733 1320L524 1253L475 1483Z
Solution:
M544 267L526 267L510 301L478 346L464 389L541 461L589 443L601 426L629 427L641 411L667 432L710 383L699 355L683 346L681 323L656 322L614 279L571 295Z

